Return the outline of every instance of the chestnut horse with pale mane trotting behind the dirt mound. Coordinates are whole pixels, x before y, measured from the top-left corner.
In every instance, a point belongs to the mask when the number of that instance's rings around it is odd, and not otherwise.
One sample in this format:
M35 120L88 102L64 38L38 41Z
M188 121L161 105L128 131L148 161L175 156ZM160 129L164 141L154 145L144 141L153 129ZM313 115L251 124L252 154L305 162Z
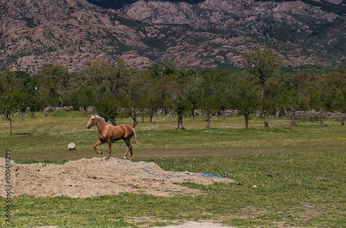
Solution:
M132 145L131 145L131 137L134 136L134 141L137 145L139 145L138 138L136 137L136 132L134 129L127 125L122 124L119 126L113 126L111 124L107 124L102 117L99 117L98 115L91 114L90 120L88 124L86 125L87 129L90 129L91 126L95 125L98 126L98 137L100 140L96 142L93 145L93 149L95 149L96 153L102 153L101 151L98 151L96 149L96 146L108 142L108 152L109 152L109 158L111 158L111 142L118 141L118 140L124 140L126 143L128 149L125 152L124 159L127 158L127 153L130 151L131 158L134 157L132 153Z

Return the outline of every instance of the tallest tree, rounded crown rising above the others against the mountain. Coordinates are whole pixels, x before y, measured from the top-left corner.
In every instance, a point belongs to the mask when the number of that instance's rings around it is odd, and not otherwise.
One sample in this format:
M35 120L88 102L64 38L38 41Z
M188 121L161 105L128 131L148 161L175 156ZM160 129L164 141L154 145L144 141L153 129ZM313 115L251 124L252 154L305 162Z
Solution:
M268 127L268 104L271 102L267 99L264 99L264 90L266 82L268 79L273 77L275 70L280 68L283 64L282 59L276 53L273 53L271 50L253 50L245 56L246 62L248 64L248 70L251 75L257 77L258 83L261 85L261 102L264 107L264 126Z

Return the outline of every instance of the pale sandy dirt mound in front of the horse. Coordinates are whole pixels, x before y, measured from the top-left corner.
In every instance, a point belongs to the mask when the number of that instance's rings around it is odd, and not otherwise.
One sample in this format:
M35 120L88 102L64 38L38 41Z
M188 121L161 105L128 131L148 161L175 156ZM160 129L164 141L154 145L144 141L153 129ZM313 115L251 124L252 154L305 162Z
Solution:
M84 198L113 195L121 192L147 193L154 196L195 194L199 191L174 183L212 184L233 182L202 173L164 171L154 162L131 162L118 158L92 158L65 164L15 164L11 161L12 196L70 196ZM5 173L5 159L0 158ZM1 175L5 189L5 175ZM1 191L0 196L6 192Z

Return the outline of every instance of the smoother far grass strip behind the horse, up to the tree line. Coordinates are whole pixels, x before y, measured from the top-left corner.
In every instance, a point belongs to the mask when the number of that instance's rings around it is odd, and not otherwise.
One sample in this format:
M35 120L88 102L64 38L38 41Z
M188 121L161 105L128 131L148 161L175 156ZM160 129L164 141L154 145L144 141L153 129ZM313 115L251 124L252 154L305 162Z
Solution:
M335 120L325 120L326 125L318 122L298 120L298 126L289 128L286 118L270 119L270 128L264 129L262 118L252 117L250 129L244 129L242 116L212 117L211 128L199 116L196 120L186 117L183 120L185 130L177 131L176 122L169 117L152 123L140 122L136 133L140 146L134 144L135 158L165 156L222 155L238 153L277 152L290 153L304 149L320 151L340 151L346 143L345 127ZM0 119L0 149L10 149L15 160L77 160L93 158L97 155L92 145L98 141L96 126L86 129L90 115L81 112L57 112L44 117L35 113L35 119L26 116L24 121L19 115L13 117L12 135L9 134L9 122ZM138 118L139 119L139 118ZM147 121L148 118L146 117ZM175 120L175 119L174 119ZM132 120L118 120L118 124L131 124ZM75 142L76 150L67 151L67 144ZM107 151L107 144L99 146ZM116 142L113 156L122 158L127 147L124 142ZM179 152L178 152L179 151Z

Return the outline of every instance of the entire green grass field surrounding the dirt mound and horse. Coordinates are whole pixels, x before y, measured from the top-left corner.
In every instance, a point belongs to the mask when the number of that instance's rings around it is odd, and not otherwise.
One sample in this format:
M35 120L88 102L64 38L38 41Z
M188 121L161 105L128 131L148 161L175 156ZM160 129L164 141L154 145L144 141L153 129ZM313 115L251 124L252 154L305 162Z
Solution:
M86 129L90 115L58 112L56 116L10 124L0 119L0 154L10 149L17 163L63 163L97 155L95 126ZM130 119L118 124L131 124ZM252 117L244 129L242 116L213 117L211 129L199 119L183 121L185 130L176 131L176 122L140 122L134 145L134 161L156 162L165 170L206 172L233 178L230 184L184 183L201 189L200 196L161 198L122 193L97 198L12 199L13 227L57 225L59 227L138 227L170 225L184 220L215 220L231 226L343 227L346 224L346 127L340 121L325 120L325 126L298 120ZM75 142L76 150L67 151ZM132 141L133 142L133 141ZM99 146L107 151L107 145ZM127 147L117 142L112 156L122 158ZM5 171L3 171L4 173ZM253 188L253 185L256 185ZM6 202L1 199L1 208ZM3 221L6 218L3 216ZM6 225L6 222L2 222Z

